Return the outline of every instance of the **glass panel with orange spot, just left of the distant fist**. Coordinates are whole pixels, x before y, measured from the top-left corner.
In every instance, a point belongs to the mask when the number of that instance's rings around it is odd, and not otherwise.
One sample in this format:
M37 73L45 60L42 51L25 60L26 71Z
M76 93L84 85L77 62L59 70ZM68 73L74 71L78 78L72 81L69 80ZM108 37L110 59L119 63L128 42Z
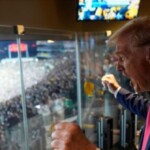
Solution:
M104 115L104 90L101 77L106 37L104 33L79 33L81 65L82 121L87 137L97 144L96 119ZM106 112L107 113L107 112Z

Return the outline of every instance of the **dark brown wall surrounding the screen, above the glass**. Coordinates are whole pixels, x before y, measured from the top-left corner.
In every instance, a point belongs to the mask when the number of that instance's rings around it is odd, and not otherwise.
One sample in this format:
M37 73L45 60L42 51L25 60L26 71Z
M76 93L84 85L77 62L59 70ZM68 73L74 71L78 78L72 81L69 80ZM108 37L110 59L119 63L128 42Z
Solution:
M0 24L67 31L116 30L126 21L78 22L77 0L0 0ZM139 16L150 15L150 1L141 0Z

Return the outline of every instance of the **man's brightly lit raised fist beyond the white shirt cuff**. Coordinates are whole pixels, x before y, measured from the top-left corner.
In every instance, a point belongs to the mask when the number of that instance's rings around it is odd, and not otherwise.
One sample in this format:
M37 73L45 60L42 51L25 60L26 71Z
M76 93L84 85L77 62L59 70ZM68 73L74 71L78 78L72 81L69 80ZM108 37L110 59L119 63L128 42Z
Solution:
M113 74L104 75L102 77L102 84L104 87L108 88L109 92L112 94L121 87Z

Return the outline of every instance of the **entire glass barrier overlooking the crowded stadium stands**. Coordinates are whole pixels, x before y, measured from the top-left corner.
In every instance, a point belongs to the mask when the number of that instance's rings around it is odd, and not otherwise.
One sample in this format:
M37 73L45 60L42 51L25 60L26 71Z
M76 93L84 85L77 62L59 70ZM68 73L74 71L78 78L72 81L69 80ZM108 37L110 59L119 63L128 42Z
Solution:
M0 149L50 149L54 125L63 121L77 122L98 145L102 117L113 119L113 145L119 142L124 110L101 77L113 73L132 89L114 68L107 38L105 32L25 28L18 34L14 27L0 27Z

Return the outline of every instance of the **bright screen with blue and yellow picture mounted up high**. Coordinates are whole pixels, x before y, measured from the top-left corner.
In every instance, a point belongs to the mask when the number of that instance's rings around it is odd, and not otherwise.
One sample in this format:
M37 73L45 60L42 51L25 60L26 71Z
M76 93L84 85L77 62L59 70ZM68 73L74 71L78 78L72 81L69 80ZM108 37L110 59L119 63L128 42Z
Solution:
M140 0L78 0L78 20L131 20L139 5Z

